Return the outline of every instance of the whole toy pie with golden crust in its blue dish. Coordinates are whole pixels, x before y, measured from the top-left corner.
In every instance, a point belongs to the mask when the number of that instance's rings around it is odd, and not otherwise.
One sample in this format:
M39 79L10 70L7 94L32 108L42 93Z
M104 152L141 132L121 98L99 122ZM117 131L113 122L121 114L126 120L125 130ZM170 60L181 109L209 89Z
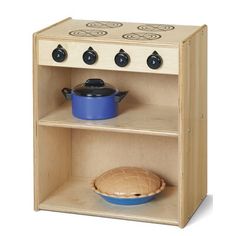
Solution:
M109 203L140 205L152 201L165 185L161 177L149 170L117 167L94 179L92 189Z

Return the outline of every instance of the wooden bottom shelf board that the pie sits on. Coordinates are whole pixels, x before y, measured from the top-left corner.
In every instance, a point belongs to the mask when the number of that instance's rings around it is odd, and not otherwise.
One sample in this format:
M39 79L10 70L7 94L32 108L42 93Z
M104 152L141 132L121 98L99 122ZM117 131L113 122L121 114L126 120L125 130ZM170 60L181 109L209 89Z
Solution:
M177 187L166 187L143 205L119 206L105 202L90 184L91 179L72 178L40 203L39 209L178 225Z

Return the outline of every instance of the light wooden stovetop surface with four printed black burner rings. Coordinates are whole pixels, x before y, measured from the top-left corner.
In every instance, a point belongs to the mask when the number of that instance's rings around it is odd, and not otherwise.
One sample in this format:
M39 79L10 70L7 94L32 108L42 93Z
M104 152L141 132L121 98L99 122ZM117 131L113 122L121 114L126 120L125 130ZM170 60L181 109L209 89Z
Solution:
M42 38L136 44L179 44L199 26L68 19L41 31Z

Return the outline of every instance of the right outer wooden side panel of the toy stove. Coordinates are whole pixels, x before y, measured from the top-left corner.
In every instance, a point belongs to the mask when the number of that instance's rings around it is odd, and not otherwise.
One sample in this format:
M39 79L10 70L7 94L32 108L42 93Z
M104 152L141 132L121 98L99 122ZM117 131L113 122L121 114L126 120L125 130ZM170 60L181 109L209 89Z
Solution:
M180 198L183 227L207 194L207 27L180 53Z

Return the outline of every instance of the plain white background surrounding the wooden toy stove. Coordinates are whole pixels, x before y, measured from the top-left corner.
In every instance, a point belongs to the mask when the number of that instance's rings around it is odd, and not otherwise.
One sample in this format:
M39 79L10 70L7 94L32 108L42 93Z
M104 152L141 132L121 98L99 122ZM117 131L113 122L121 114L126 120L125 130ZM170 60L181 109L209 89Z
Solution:
M236 17L233 3L233 0L1 1L0 235L199 236L235 232ZM208 25L210 196L184 229L33 211L32 33L68 16Z

